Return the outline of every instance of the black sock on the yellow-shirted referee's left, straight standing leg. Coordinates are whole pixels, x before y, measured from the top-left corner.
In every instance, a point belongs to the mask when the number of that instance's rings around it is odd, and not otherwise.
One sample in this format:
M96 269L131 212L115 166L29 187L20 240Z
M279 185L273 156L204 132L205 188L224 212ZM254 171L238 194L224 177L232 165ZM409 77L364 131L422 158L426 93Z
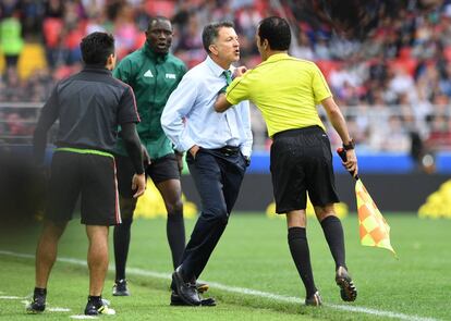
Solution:
M312 272L310 252L308 249L307 236L304 227L290 227L288 242L294 264L304 283L307 297L315 294L316 286Z

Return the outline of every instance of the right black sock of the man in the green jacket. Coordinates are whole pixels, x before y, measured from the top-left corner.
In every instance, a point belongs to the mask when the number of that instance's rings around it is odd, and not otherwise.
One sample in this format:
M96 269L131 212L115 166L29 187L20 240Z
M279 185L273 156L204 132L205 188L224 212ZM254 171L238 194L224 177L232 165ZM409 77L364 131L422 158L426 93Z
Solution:
M168 213L166 225L169 247L172 254L174 270L182 262L183 251L185 250L185 222L183 221L183 210Z

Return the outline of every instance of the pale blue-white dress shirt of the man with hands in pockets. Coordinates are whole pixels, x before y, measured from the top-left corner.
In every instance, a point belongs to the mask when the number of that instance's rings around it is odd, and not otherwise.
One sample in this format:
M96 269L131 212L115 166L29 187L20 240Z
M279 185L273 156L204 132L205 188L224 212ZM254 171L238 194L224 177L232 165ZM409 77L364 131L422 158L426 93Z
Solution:
M179 151L194 145L207 149L240 147L246 157L252 151L248 101L223 113L215 111L219 90L227 85L223 69L210 57L190 70L166 103L161 126Z

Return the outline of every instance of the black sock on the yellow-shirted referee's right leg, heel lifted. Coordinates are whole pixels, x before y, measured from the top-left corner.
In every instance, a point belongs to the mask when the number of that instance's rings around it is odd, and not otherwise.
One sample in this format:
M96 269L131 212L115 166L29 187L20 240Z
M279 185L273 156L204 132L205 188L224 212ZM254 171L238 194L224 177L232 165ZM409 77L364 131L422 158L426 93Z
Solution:
M322 231L329 245L330 252L336 261L336 269L339 267L346 268L344 251L343 227L339 218L334 215L327 217L321 221Z

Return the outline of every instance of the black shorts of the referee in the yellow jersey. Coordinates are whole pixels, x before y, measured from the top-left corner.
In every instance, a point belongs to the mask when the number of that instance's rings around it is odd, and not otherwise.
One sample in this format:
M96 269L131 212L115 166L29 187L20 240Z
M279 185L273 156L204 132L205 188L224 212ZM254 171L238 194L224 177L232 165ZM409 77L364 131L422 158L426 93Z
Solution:
M270 159L277 213L305 209L307 193L314 206L339 202L330 141L319 126L277 133Z

